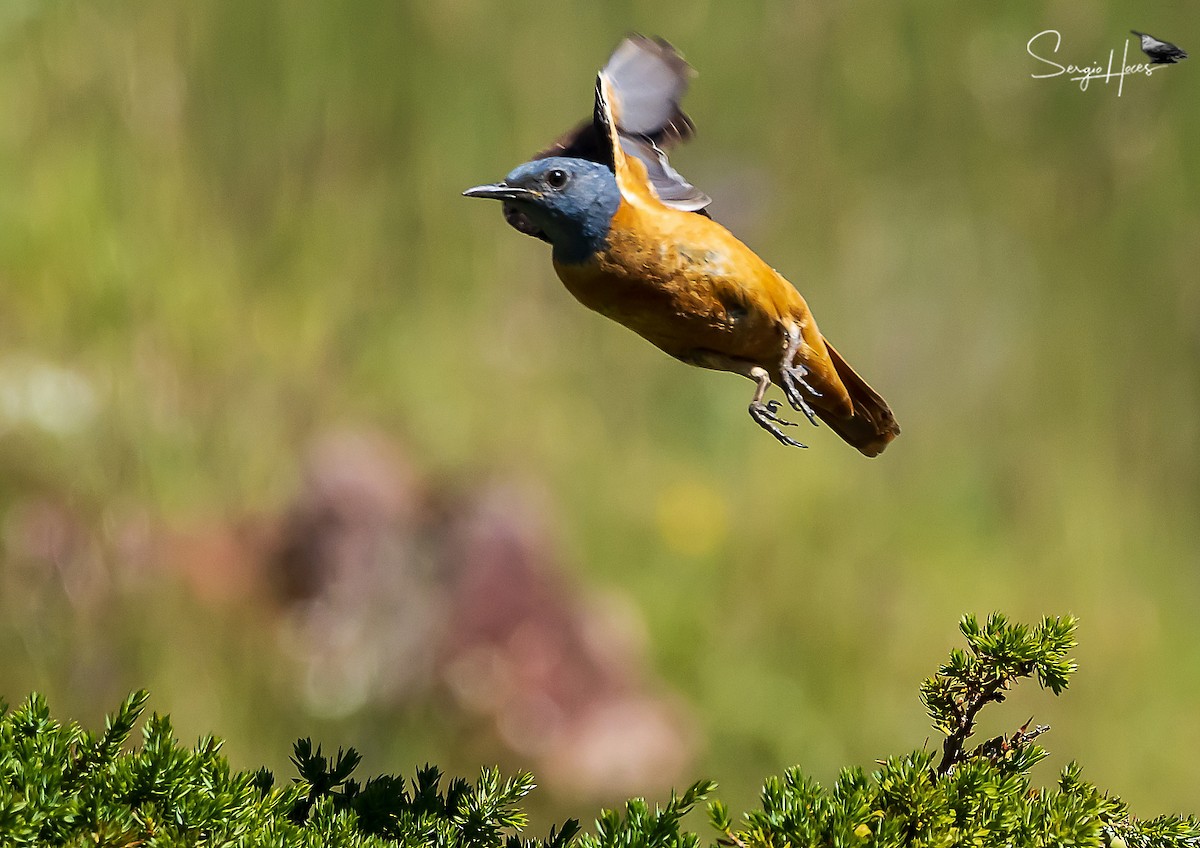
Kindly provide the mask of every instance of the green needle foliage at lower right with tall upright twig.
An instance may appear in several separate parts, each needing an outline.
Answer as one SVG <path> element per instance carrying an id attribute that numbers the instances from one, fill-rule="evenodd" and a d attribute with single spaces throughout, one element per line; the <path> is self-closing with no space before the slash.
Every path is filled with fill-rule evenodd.
<path id="1" fill-rule="evenodd" d="M 1074 763 L 1054 788 L 1037 788 L 1030 769 L 1045 757 L 1033 739 L 1049 730 L 1028 723 L 1010 736 L 971 751 L 965 741 L 979 711 L 1000 702 L 1025 678 L 1055 694 L 1067 688 L 1075 662 L 1072 617 L 1045 618 L 1037 627 L 1009 624 L 1000 614 L 980 626 L 959 625 L 967 651 L 922 684 L 934 727 L 946 734 L 941 762 L 930 751 L 893 757 L 871 775 L 845 769 L 824 789 L 799 769 L 773 777 L 762 810 L 737 825 L 720 804 L 709 807 L 721 844 L 784 846 L 1184 846 L 1200 844 L 1200 822 L 1169 817 L 1130 819 L 1126 805 L 1085 781 Z"/>

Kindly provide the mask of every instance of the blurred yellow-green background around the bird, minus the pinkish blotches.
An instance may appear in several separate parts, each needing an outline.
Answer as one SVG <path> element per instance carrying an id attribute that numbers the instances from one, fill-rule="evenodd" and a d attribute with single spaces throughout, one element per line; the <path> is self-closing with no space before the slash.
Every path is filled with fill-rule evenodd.
<path id="1" fill-rule="evenodd" d="M 145 686 L 282 774 L 313 735 L 372 772 L 532 766 L 546 814 L 701 775 L 743 808 L 793 763 L 940 744 L 917 682 L 961 613 L 1073 612 L 1070 691 L 985 732 L 1034 715 L 1046 781 L 1079 759 L 1139 814 L 1195 812 L 1200 60 L 1118 97 L 1026 53 L 1200 49 L 1194 11 L 1144 10 L 7 0 L 0 693 L 95 726 Z M 587 115 L 630 30 L 701 72 L 674 163 L 890 401 L 881 458 L 827 429 L 784 450 L 748 383 L 588 313 L 460 197 Z M 562 591 L 624 611 L 604 638 L 643 631 L 616 664 L 678 717 L 674 765 L 569 789 L 436 681 L 306 696 L 342 625 L 401 663 L 388 603 L 342 620 L 370 587 L 305 642 L 263 565 L 337 432 L 403 456 L 414 549 L 457 549 L 438 528 L 473 492 L 522 493 Z"/>

